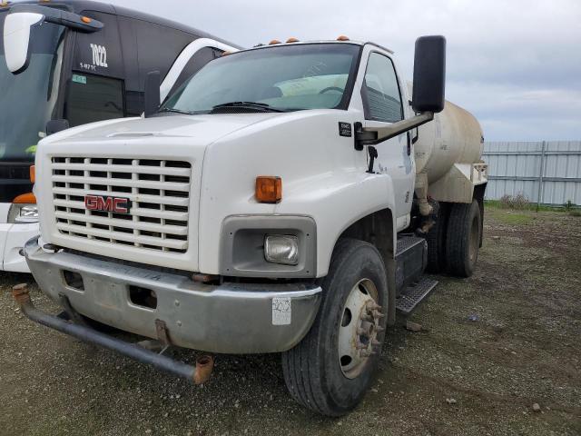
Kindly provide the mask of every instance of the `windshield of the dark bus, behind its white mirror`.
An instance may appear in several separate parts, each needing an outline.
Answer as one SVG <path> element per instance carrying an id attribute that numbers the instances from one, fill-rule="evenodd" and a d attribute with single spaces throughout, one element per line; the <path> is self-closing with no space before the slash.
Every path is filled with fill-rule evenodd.
<path id="1" fill-rule="evenodd" d="M 5 16 L 0 13 L 0 160 L 28 161 L 34 159 L 56 103 L 64 27 L 46 23 L 33 27 L 30 64 L 14 75 L 6 67 L 1 35 Z"/>

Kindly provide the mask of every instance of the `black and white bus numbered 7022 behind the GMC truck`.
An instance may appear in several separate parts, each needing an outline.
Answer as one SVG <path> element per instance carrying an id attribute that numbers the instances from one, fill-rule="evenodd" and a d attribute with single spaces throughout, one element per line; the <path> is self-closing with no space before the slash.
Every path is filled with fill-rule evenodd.
<path id="1" fill-rule="evenodd" d="M 23 247 L 39 233 L 30 180 L 38 141 L 142 114 L 146 74 L 165 77 L 164 96 L 236 48 L 186 25 L 84 0 L 3 3 L 0 31 L 0 270 L 29 272 Z"/>

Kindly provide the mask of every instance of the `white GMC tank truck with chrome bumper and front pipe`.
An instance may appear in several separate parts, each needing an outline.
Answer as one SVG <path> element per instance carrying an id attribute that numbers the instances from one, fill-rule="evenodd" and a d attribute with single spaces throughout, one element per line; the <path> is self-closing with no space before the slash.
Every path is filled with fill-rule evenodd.
<path id="1" fill-rule="evenodd" d="M 42 234 L 25 255 L 64 315 L 15 299 L 195 382 L 212 358 L 176 362 L 92 326 L 150 348 L 281 352 L 297 401 L 350 411 L 396 310 L 436 285 L 424 270 L 466 277 L 477 262 L 482 133 L 444 82 L 441 36 L 416 43 L 413 92 L 380 45 L 273 41 L 206 64 L 159 108 L 153 95 L 143 118 L 44 139 Z"/>

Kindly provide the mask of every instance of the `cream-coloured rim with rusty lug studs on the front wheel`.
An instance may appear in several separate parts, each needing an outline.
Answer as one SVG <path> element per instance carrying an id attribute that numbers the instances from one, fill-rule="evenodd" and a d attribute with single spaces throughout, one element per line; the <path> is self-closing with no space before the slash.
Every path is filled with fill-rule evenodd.
<path id="1" fill-rule="evenodd" d="M 339 364 L 348 379 L 363 372 L 369 358 L 379 352 L 379 332 L 383 318 L 378 289 L 369 279 L 362 279 L 351 288 L 343 307 L 339 326 Z"/>

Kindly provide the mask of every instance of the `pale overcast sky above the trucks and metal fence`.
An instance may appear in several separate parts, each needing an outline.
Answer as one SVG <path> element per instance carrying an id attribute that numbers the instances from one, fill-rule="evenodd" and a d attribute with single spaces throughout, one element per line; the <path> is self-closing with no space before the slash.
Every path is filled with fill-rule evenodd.
<path id="1" fill-rule="evenodd" d="M 419 35 L 448 39 L 446 97 L 487 141 L 581 140 L 581 0 L 108 0 L 249 47 L 271 39 L 373 41 L 411 76 Z"/>

